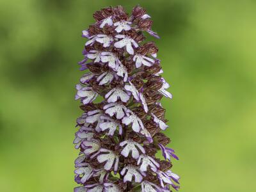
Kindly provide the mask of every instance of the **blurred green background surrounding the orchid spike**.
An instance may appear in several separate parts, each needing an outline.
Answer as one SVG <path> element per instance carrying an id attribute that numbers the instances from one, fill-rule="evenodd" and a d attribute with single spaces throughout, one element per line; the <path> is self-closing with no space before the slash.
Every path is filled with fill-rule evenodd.
<path id="1" fill-rule="evenodd" d="M 0 1 L 0 191 L 65 192 L 74 183 L 81 31 L 104 6 L 147 8 L 184 192 L 256 191 L 256 2 Z M 154 40 L 150 38 L 150 40 Z"/>

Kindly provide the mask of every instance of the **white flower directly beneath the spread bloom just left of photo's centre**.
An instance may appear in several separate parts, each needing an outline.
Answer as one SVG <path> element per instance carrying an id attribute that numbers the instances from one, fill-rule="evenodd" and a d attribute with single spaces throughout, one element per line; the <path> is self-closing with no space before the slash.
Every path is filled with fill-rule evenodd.
<path id="1" fill-rule="evenodd" d="M 125 115 L 125 111 L 127 108 L 121 104 L 120 102 L 111 102 L 109 104 L 106 104 L 103 107 L 105 113 L 107 113 L 109 116 L 116 116 L 117 119 L 121 119 Z"/>

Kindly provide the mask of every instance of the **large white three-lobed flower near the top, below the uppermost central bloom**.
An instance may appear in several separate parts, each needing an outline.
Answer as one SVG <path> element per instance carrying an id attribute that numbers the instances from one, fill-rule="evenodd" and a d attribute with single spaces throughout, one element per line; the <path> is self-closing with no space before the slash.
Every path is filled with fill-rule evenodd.
<path id="1" fill-rule="evenodd" d="M 129 36 L 125 35 L 116 35 L 116 38 L 122 38 L 122 40 L 115 42 L 114 46 L 116 48 L 123 48 L 126 47 L 126 51 L 129 54 L 134 54 L 134 49 L 132 48 L 132 45 L 137 48 L 139 45 Z"/>

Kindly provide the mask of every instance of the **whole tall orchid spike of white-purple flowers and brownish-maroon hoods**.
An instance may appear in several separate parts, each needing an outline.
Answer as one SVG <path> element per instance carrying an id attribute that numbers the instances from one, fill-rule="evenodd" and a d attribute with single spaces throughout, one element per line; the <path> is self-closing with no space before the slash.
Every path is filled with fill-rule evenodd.
<path id="1" fill-rule="evenodd" d="M 80 150 L 75 180 L 82 191 L 171 191 L 178 189 L 171 158 L 178 159 L 161 131 L 167 120 L 159 100 L 172 98 L 166 89 L 154 42 L 152 20 L 140 6 L 131 16 L 122 6 L 93 14 L 96 23 L 83 31 L 87 38 L 76 85 L 83 114 L 77 118 L 74 144 Z M 101 102 L 93 102 L 97 96 Z M 157 159 L 161 150 L 165 160 Z"/>

